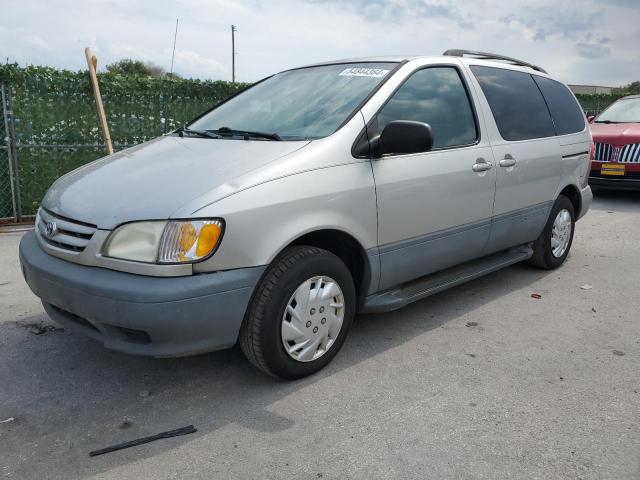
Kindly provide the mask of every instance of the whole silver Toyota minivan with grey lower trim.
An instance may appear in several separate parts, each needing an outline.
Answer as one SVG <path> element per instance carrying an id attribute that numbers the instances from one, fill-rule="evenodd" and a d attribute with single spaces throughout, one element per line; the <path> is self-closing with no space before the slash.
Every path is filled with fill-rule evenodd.
<path id="1" fill-rule="evenodd" d="M 357 313 L 560 266 L 591 203 L 591 145 L 569 89 L 513 58 L 296 68 L 60 178 L 20 260 L 50 317 L 105 347 L 239 343 L 299 378 Z"/>

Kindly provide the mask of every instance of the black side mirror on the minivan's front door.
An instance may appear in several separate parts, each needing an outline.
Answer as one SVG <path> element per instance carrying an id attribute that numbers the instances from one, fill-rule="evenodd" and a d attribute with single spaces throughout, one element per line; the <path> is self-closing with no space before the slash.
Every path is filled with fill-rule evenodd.
<path id="1" fill-rule="evenodd" d="M 428 152 L 433 147 L 433 131 L 428 123 L 409 120 L 389 122 L 378 139 L 376 157 L 386 154 Z"/>

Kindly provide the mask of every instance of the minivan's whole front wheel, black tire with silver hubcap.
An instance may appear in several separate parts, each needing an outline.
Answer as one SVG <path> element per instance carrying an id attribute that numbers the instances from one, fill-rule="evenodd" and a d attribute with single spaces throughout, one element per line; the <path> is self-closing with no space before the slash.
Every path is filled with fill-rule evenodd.
<path id="1" fill-rule="evenodd" d="M 340 295 L 334 295 L 338 291 Z M 340 299 L 343 307 L 336 308 Z M 306 377 L 338 353 L 355 306 L 353 278 L 339 257 L 316 247 L 288 248 L 268 267 L 254 292 L 240 329 L 240 348 L 268 375 Z"/>

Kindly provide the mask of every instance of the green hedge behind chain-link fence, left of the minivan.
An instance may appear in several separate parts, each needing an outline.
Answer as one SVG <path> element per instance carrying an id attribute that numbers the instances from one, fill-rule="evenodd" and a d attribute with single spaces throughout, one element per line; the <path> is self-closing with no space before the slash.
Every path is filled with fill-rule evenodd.
<path id="1" fill-rule="evenodd" d="M 112 73 L 98 79 L 116 150 L 167 133 L 246 86 Z M 32 215 L 56 178 L 104 156 L 91 82 L 87 71 L 0 65 L 0 83 L 12 90 L 20 203 L 22 214 Z M 0 217 L 11 216 L 4 152 L 0 149 Z"/>

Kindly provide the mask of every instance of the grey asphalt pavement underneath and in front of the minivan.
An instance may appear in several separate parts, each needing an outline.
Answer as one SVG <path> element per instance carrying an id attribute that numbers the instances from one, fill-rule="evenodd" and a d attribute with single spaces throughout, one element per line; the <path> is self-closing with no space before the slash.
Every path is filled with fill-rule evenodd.
<path id="1" fill-rule="evenodd" d="M 57 327 L 21 235 L 0 233 L 0 478 L 640 478 L 640 192 L 599 193 L 559 270 L 358 317 L 296 382 L 239 349 L 138 358 Z"/>

